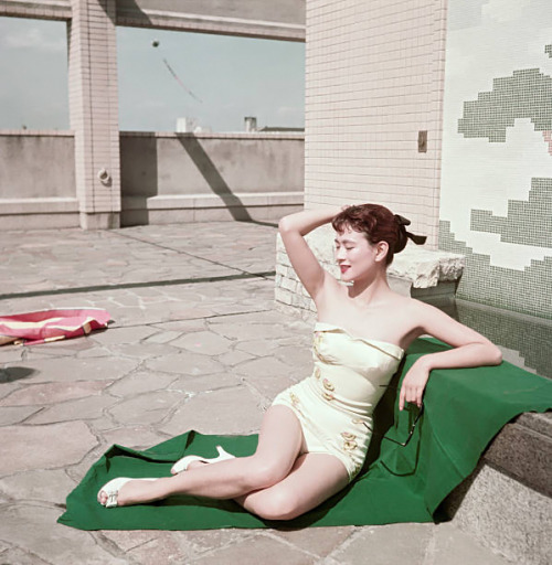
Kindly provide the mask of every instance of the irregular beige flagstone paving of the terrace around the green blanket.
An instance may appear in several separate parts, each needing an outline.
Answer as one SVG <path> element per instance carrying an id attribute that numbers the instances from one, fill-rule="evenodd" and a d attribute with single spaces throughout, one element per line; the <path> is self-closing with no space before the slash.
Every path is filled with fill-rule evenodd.
<path id="1" fill-rule="evenodd" d="M 113 444 L 250 434 L 310 372 L 310 328 L 275 310 L 275 228 L 253 223 L 0 236 L 0 313 L 105 308 L 87 338 L 0 348 L 0 563 L 499 565 L 454 522 L 82 532 L 65 497 Z M 236 409 L 238 407 L 238 409 Z"/>

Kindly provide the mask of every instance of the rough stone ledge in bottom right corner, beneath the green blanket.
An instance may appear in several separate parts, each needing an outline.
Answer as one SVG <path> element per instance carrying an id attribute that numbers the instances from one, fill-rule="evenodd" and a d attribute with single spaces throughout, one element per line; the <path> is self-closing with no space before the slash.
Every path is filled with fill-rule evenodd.
<path id="1" fill-rule="evenodd" d="M 444 511 L 481 544 L 514 563 L 548 565 L 552 554 L 552 413 L 507 424 Z"/>

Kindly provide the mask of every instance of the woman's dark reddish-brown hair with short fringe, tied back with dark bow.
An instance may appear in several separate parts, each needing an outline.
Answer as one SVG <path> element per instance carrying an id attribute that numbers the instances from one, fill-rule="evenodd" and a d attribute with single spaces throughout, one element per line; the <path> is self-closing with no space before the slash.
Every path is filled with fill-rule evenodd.
<path id="1" fill-rule="evenodd" d="M 425 235 L 414 235 L 406 231 L 410 223 L 410 220 L 393 214 L 380 204 L 359 204 L 346 207 L 332 220 L 331 225 L 338 233 L 347 228 L 360 232 L 372 245 L 386 242 L 389 252 L 385 264 L 391 265 L 393 256 L 404 249 L 408 238 L 416 245 L 426 241 Z"/>

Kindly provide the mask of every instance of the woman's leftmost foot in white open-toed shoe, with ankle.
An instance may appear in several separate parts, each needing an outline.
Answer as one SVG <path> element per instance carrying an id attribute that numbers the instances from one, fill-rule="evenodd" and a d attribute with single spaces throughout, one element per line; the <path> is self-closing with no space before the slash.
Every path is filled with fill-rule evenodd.
<path id="1" fill-rule="evenodd" d="M 163 479 L 130 479 L 118 477 L 104 484 L 97 495 L 105 508 L 142 504 L 163 498 L 160 489 Z"/>

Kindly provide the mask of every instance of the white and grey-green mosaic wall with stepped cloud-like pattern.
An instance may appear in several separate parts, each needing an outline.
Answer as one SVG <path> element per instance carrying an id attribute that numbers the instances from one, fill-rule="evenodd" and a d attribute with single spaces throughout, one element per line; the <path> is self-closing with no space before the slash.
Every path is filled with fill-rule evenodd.
<path id="1" fill-rule="evenodd" d="M 552 318 L 549 0 L 449 0 L 439 247 L 461 298 Z"/>

